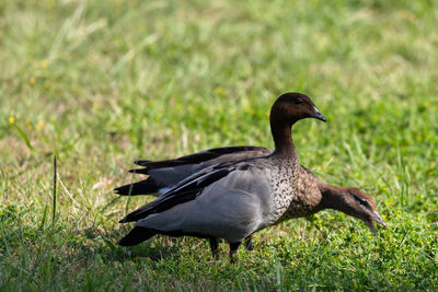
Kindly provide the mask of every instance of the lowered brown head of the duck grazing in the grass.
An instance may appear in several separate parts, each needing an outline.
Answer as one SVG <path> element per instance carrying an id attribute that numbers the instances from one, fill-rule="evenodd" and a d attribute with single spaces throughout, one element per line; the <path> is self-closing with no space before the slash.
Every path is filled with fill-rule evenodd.
<path id="1" fill-rule="evenodd" d="M 343 200 L 345 205 L 341 211 L 362 220 L 372 233 L 377 233 L 373 222 L 387 226 L 387 223 L 376 211 L 376 202 L 371 196 L 358 188 L 345 188 Z"/>

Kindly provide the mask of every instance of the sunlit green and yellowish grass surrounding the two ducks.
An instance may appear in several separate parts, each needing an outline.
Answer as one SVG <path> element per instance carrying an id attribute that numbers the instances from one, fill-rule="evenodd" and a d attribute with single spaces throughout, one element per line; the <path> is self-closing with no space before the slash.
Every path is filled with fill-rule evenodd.
<path id="1" fill-rule="evenodd" d="M 0 290 L 438 290 L 437 21 L 437 1 L 0 1 Z M 195 238 L 115 245 L 150 199 L 112 192 L 135 159 L 272 148 L 286 91 L 328 119 L 295 127 L 302 164 L 389 229 L 324 211 L 237 265 Z"/>

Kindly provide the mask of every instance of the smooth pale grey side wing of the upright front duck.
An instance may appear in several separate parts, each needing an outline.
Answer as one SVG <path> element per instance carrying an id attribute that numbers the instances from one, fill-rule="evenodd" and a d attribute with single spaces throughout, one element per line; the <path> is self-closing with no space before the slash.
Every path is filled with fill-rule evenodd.
<path id="1" fill-rule="evenodd" d="M 194 200 L 137 222 L 138 226 L 205 234 L 239 242 L 264 226 L 273 213 L 266 170 L 237 170 L 206 187 Z"/>

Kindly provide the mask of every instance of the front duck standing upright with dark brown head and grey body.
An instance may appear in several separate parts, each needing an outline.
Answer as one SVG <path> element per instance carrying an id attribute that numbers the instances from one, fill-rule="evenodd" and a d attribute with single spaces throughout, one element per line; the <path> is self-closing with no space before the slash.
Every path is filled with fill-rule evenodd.
<path id="1" fill-rule="evenodd" d="M 318 206 L 321 191 L 312 182 L 303 188 L 291 136 L 291 127 L 304 118 L 326 121 L 309 96 L 281 94 L 269 115 L 272 154 L 215 164 L 182 179 L 119 221 L 136 224 L 118 244 L 137 245 L 157 234 L 208 238 L 210 244 L 223 238 L 233 261 L 240 244 L 280 220 L 292 201 L 297 210 Z"/>

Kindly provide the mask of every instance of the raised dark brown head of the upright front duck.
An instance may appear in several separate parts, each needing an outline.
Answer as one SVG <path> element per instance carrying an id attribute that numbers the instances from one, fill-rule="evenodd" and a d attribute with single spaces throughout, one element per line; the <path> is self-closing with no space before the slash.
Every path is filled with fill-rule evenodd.
<path id="1" fill-rule="evenodd" d="M 272 120 L 281 120 L 290 126 L 303 118 L 316 118 L 326 121 L 309 96 L 297 92 L 281 94 L 270 110 Z"/>

